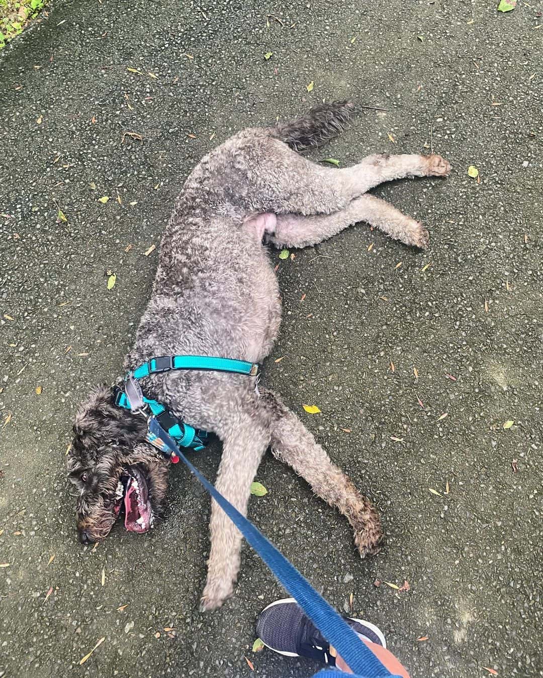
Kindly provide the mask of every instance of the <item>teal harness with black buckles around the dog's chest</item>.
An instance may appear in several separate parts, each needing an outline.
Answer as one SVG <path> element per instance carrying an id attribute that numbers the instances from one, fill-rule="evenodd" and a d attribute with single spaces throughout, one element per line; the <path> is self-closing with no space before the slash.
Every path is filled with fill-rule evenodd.
<path id="1" fill-rule="evenodd" d="M 246 376 L 258 375 L 257 363 L 249 363 L 245 360 L 233 360 L 230 358 L 215 358 L 206 355 L 162 355 L 152 358 L 143 363 L 125 377 L 125 388 L 115 388 L 115 405 L 125 410 L 147 416 L 151 412 L 147 424 L 146 439 L 151 445 L 157 447 L 170 461 L 176 464 L 179 457 L 175 454 L 168 442 L 151 431 L 151 420 L 156 420 L 162 429 L 179 447 L 189 450 L 203 450 L 208 444 L 209 434 L 199 428 L 193 428 L 185 424 L 179 417 L 174 416 L 162 403 L 151 398 L 146 398 L 138 384 L 138 380 L 151 374 L 162 374 L 172 370 L 200 370 L 203 372 L 231 372 L 233 374 L 245 374 Z M 153 427 L 154 428 L 154 427 Z"/>

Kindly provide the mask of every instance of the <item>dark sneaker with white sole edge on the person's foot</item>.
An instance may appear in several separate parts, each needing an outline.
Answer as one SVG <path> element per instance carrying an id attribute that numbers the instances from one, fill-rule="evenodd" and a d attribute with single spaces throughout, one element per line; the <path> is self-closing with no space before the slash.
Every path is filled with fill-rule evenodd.
<path id="1" fill-rule="evenodd" d="M 386 647 L 383 633 L 374 624 L 345 616 L 343 619 L 363 639 Z M 305 616 L 294 598 L 276 600 L 265 607 L 257 620 L 257 634 L 266 647 L 286 657 L 308 657 L 335 666 L 330 643 Z"/>

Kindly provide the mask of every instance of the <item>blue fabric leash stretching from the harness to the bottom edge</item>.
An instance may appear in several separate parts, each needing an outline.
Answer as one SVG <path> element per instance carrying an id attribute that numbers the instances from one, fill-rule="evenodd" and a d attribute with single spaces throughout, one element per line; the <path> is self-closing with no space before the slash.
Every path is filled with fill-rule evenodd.
<path id="1" fill-rule="evenodd" d="M 385 678 L 392 676 L 390 671 L 377 659 L 375 654 L 360 640 L 349 624 L 337 614 L 311 584 L 298 572 L 276 547 L 263 536 L 238 509 L 226 500 L 214 486 L 204 478 L 179 450 L 179 446 L 164 431 L 154 417 L 149 419 L 149 431 L 162 438 L 175 450 L 176 455 L 189 468 L 189 471 L 204 485 L 209 494 L 221 506 L 221 509 L 236 525 L 269 570 L 276 576 L 284 588 L 297 601 L 303 612 L 312 620 L 322 635 L 360 678 Z M 336 672 L 336 675 L 341 675 Z"/>

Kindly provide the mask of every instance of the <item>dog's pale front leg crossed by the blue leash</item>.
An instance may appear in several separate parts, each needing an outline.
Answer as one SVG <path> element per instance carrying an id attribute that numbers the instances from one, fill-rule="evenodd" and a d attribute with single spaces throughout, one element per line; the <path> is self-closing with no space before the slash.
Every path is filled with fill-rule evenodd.
<path id="1" fill-rule="evenodd" d="M 269 445 L 269 431 L 263 422 L 250 416 L 233 417 L 234 423 L 223 435 L 223 456 L 215 487 L 243 515 L 247 511 L 250 485 Z M 233 593 L 240 567 L 242 535 L 223 509 L 211 500 L 208 576 L 200 610 L 221 607 Z"/>

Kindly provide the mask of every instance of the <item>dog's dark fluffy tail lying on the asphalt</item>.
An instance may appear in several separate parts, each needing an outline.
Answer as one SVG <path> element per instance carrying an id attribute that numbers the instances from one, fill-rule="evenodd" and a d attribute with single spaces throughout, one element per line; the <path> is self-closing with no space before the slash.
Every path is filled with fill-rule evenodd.
<path id="1" fill-rule="evenodd" d="M 277 123 L 272 134 L 295 151 L 319 146 L 343 132 L 354 110 L 354 103 L 347 100 L 320 104 L 296 120 Z"/>

